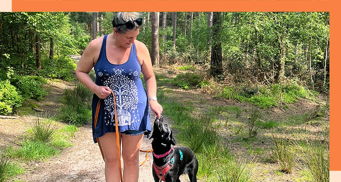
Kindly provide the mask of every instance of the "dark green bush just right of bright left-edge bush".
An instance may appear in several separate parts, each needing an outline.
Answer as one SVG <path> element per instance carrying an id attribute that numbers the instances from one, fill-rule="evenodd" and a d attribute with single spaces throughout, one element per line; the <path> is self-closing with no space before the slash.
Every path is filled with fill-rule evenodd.
<path id="1" fill-rule="evenodd" d="M 16 86 L 24 100 L 35 99 L 39 100 L 45 95 L 47 91 L 43 89 L 43 85 L 47 80 L 39 76 L 19 76 L 16 75 L 11 84 Z"/>

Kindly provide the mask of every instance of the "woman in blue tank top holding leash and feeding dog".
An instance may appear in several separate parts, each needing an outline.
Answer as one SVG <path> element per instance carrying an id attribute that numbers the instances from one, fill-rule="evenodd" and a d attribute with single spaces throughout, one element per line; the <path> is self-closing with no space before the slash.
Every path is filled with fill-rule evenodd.
<path id="1" fill-rule="evenodd" d="M 106 181 L 119 181 L 120 178 L 115 145 L 115 112 L 110 92 L 113 91 L 122 145 L 123 179 L 125 182 L 136 182 L 142 136 L 151 130 L 148 105 L 158 117 L 162 107 L 156 100 L 156 80 L 148 49 L 135 40 L 142 19 L 138 18 L 137 13 L 119 12 L 115 14 L 112 24 L 112 34 L 97 38 L 86 47 L 76 69 L 76 76 L 94 92 L 92 133 L 94 142 L 97 142 L 97 138 L 102 146 Z M 88 75 L 93 67 L 96 82 Z M 139 78 L 140 73 L 145 80 L 146 92 Z M 98 121 L 94 121 L 99 99 L 102 100 Z"/>

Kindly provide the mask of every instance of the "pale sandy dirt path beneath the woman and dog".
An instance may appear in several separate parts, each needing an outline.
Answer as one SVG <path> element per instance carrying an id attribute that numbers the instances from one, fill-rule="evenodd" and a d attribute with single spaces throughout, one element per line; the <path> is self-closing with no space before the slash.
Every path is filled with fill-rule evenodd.
<path id="1" fill-rule="evenodd" d="M 61 105 L 64 89 L 72 87 L 67 82 L 51 83 L 49 95 L 37 105 L 40 109 L 47 110 L 49 115 L 54 115 Z M 22 140 L 23 135 L 31 126 L 35 116 L 24 116 L 18 120 L 0 120 L 0 149 L 7 146 L 19 146 L 17 143 Z M 151 115 L 151 118 L 154 118 Z M 165 120 L 169 120 L 165 118 Z M 153 119 L 151 119 L 152 124 Z M 65 125 L 61 123 L 61 125 Z M 16 176 L 14 179 L 22 181 L 105 181 L 104 166 L 100 150 L 97 144 L 93 143 L 91 124 L 79 127 L 75 137 L 71 139 L 73 146 L 64 149 L 58 157 L 46 161 L 35 161 L 23 164 L 26 172 Z M 141 149 L 149 150 L 151 140 L 144 136 Z M 140 163 L 145 159 L 145 153 L 139 154 Z M 152 177 L 152 156 L 140 167 L 138 181 L 153 181 Z M 187 175 L 181 177 L 182 181 L 189 181 Z"/>

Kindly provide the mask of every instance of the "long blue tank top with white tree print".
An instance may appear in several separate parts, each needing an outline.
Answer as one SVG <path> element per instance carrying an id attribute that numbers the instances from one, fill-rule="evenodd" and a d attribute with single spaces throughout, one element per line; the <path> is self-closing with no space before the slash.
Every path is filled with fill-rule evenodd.
<path id="1" fill-rule="evenodd" d="M 136 56 L 135 44 L 131 45 L 128 61 L 115 65 L 106 56 L 107 35 L 103 38 L 98 61 L 94 67 L 95 83 L 109 87 L 115 94 L 118 131 L 151 131 L 147 94 L 140 79 L 141 66 Z M 112 95 L 101 100 L 98 121 L 94 118 L 99 97 L 92 99 L 92 134 L 94 142 L 107 132 L 115 132 L 115 110 Z"/>

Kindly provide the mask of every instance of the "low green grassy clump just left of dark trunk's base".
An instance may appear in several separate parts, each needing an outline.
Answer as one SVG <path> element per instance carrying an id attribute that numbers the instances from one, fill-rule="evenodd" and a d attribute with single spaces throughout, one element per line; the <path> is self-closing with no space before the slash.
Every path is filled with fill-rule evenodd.
<path id="1" fill-rule="evenodd" d="M 182 89 L 201 88 L 208 85 L 202 76 L 196 73 L 179 74 L 172 80 L 172 84 Z"/>

